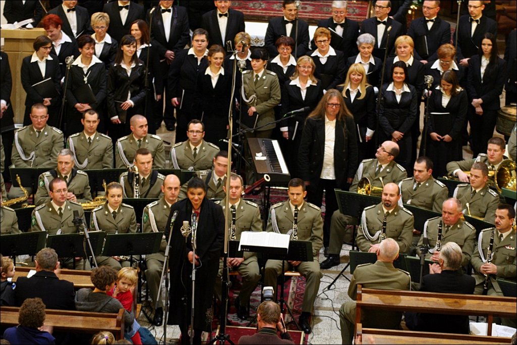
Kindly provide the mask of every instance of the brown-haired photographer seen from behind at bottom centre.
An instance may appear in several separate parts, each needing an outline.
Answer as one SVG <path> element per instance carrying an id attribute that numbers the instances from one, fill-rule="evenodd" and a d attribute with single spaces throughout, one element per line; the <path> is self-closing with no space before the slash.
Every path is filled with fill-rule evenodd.
<path id="1" fill-rule="evenodd" d="M 258 331 L 254 335 L 239 338 L 241 344 L 294 344 L 291 335 L 285 329 L 280 306 L 273 301 L 261 303 L 257 309 Z M 280 332 L 280 338 L 278 338 Z"/>

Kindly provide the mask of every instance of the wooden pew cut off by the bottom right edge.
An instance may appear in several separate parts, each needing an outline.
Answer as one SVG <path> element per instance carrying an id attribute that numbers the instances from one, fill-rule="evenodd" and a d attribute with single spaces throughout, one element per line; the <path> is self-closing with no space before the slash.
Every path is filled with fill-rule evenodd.
<path id="1" fill-rule="evenodd" d="M 394 329 L 362 328 L 357 324 L 357 336 L 363 344 L 510 344 L 511 338 L 469 334 L 397 331 Z"/>

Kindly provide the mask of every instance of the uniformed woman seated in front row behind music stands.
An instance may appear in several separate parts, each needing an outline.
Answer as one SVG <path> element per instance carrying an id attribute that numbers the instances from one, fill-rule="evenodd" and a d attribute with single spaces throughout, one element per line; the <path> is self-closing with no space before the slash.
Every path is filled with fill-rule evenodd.
<path id="1" fill-rule="evenodd" d="M 133 206 L 123 202 L 122 186 L 117 182 L 110 182 L 106 187 L 106 202 L 95 208 L 90 218 L 92 231 L 105 231 L 107 234 L 126 234 L 136 232 L 136 215 Z M 97 256 L 98 266 L 107 265 L 117 271 L 122 267 L 129 267 L 130 261 L 119 257 Z M 138 257 L 133 257 L 133 265 Z"/>

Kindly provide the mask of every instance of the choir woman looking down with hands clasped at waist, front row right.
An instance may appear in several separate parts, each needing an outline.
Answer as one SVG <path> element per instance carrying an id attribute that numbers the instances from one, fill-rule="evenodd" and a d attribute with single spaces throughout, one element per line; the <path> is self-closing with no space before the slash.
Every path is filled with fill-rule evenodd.
<path id="1" fill-rule="evenodd" d="M 425 155 L 433 161 L 435 176 L 447 175 L 447 163 L 463 159 L 461 131 L 467 109 L 467 93 L 460 87 L 456 73 L 445 71 L 440 86 L 433 89 L 429 98 Z"/>

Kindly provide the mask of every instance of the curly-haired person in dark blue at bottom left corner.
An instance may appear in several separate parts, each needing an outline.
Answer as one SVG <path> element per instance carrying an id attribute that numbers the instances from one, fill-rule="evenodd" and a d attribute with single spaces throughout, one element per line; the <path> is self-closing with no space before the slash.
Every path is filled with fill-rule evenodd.
<path id="1" fill-rule="evenodd" d="M 28 298 L 20 307 L 20 323 L 4 332 L 4 339 L 11 344 L 54 344 L 52 327 L 44 326 L 45 305 L 41 298 Z"/>

